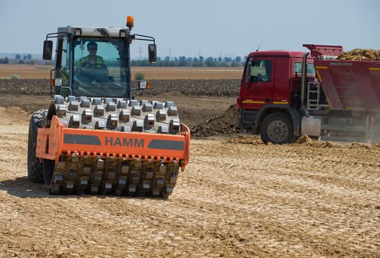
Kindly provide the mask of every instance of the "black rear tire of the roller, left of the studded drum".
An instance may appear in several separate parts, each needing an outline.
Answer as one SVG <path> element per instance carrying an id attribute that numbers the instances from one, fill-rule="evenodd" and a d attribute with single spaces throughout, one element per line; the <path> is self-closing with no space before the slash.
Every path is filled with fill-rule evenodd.
<path id="1" fill-rule="evenodd" d="M 46 110 L 36 111 L 30 118 L 28 135 L 28 180 L 33 183 L 44 183 L 44 167 L 36 157 L 37 130 Z"/>

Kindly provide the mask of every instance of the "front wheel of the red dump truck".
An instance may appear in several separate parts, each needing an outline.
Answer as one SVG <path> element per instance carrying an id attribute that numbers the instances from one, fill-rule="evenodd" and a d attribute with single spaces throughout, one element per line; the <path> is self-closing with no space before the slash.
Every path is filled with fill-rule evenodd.
<path id="1" fill-rule="evenodd" d="M 260 137 L 264 143 L 294 143 L 292 118 L 283 112 L 267 115 L 260 125 Z"/>

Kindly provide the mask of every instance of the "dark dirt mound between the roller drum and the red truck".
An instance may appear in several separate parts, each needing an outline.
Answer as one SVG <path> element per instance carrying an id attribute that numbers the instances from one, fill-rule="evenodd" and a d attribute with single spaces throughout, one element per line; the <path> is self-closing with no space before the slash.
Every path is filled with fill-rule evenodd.
<path id="1" fill-rule="evenodd" d="M 236 104 L 229 106 L 223 115 L 191 128 L 191 135 L 193 137 L 210 137 L 213 135 L 232 135 L 238 132 L 235 128 L 236 112 L 238 112 Z"/>

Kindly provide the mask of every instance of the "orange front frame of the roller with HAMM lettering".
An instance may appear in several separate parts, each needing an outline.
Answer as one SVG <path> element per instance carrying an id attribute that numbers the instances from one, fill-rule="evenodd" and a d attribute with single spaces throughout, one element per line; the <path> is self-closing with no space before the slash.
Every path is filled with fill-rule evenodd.
<path id="1" fill-rule="evenodd" d="M 59 161 L 63 154 L 109 159 L 189 163 L 190 130 L 181 123 L 180 135 L 68 128 L 53 116 L 50 128 L 39 128 L 36 157 Z"/>

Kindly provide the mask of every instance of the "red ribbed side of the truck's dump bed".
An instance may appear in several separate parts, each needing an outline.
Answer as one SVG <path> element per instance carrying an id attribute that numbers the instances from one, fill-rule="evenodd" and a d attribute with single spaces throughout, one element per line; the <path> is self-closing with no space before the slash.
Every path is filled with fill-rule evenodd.
<path id="1" fill-rule="evenodd" d="M 314 59 L 332 110 L 380 112 L 380 61 Z"/>

